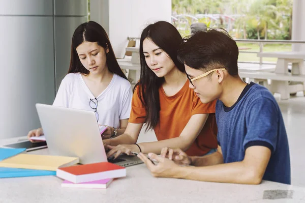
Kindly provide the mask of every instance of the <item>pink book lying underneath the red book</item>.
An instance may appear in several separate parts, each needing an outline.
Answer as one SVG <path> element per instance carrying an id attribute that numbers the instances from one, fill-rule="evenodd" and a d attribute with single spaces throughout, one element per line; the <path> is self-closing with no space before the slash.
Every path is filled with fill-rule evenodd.
<path id="1" fill-rule="evenodd" d="M 72 183 L 70 181 L 64 181 L 62 187 L 66 188 L 104 188 L 106 189 L 113 179 L 104 179 L 98 181 L 91 181 L 85 183 Z"/>

